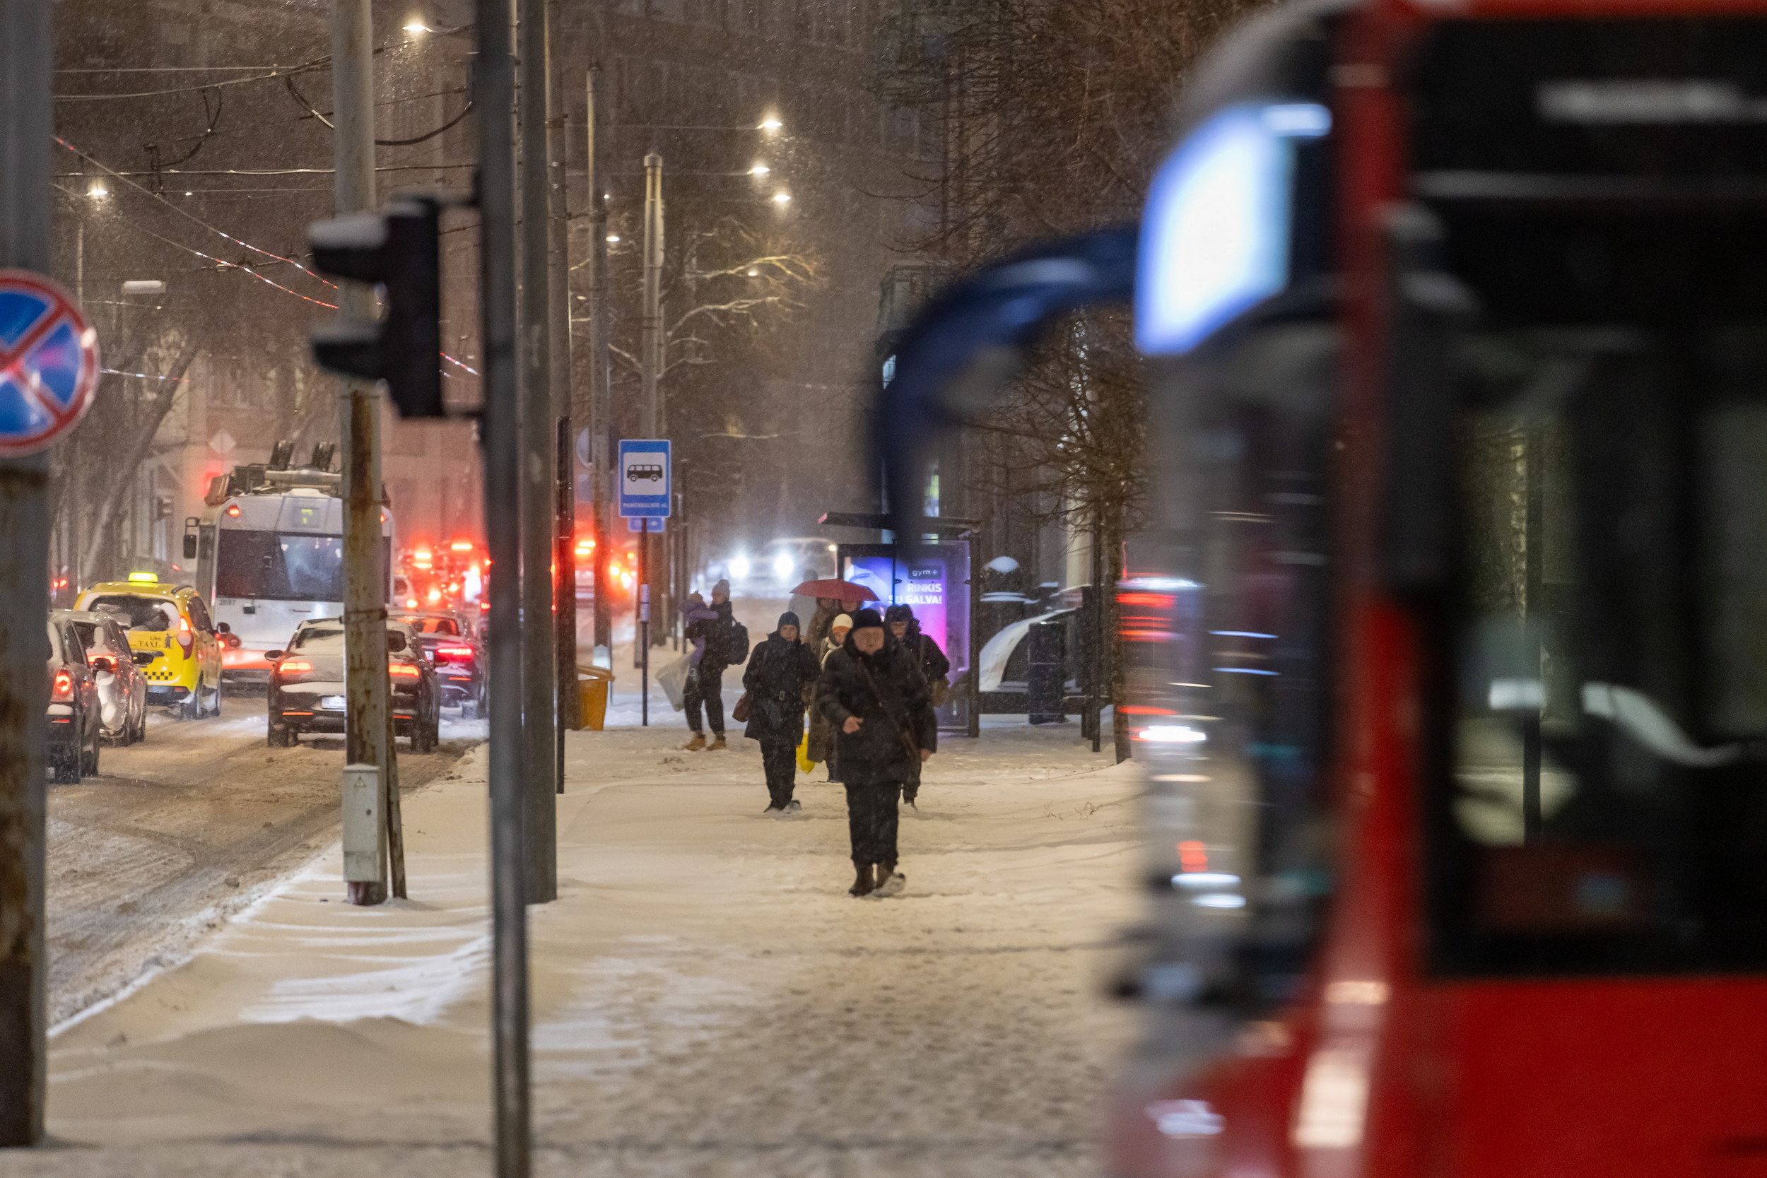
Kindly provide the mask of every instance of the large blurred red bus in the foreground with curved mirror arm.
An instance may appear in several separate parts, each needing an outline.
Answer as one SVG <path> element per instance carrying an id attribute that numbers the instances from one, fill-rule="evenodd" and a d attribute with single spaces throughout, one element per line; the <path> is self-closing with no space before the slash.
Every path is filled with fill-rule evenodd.
<path id="1" fill-rule="evenodd" d="M 892 486 L 1126 297 L 1113 1173 L 1767 1174 L 1767 5 L 1258 18 L 1140 226 L 910 328 Z"/>

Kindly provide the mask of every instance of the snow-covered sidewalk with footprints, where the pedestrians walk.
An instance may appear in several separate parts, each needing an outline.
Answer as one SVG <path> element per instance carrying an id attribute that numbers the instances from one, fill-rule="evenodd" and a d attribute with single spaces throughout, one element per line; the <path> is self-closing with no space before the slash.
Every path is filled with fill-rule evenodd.
<path id="1" fill-rule="evenodd" d="M 949 738 L 905 811 L 908 892 L 855 901 L 839 786 L 763 818 L 753 742 L 687 754 L 654 719 L 569 736 L 560 899 L 532 910 L 537 1173 L 1096 1173 L 1131 766 L 1073 724 Z M 334 851 L 60 1030 L 51 1132 L 101 1148 L 0 1174 L 488 1173 L 482 749 L 405 814 L 410 902 L 339 902 Z"/>

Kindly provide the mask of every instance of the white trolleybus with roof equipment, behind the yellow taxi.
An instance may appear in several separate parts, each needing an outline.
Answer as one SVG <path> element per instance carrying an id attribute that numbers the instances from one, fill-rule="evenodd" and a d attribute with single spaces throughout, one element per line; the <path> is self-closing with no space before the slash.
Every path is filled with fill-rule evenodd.
<path id="1" fill-rule="evenodd" d="M 231 627 L 221 652 L 223 682 L 269 682 L 263 652 L 288 646 L 307 618 L 343 616 L 343 475 L 330 470 L 336 447 L 313 447 L 306 466 L 293 443 L 277 442 L 269 463 L 235 466 L 209 482 L 201 519 L 184 521 L 184 558 L 196 562 L 196 586 L 214 602 L 214 620 Z M 380 510 L 382 569 L 392 590 L 392 510 Z"/>

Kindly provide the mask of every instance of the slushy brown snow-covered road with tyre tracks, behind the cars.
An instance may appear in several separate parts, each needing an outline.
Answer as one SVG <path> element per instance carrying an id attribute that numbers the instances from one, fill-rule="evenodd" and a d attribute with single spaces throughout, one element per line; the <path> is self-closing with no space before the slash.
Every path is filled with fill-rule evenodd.
<path id="1" fill-rule="evenodd" d="M 148 717 L 148 738 L 106 747 L 101 775 L 49 786 L 49 1021 L 180 961 L 205 933 L 332 839 L 343 740 L 263 740 L 263 696 L 230 696 L 219 719 Z M 454 765 L 479 726 L 433 756 L 401 756 L 421 786 Z"/>

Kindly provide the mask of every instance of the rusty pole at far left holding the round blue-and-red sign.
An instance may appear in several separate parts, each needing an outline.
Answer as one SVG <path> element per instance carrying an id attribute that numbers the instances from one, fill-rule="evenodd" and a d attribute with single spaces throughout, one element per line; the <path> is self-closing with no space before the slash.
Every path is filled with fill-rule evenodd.
<path id="1" fill-rule="evenodd" d="M 0 267 L 49 270 L 55 5 L 0 0 Z M 0 461 L 0 1146 L 42 1139 L 48 454 Z"/>

